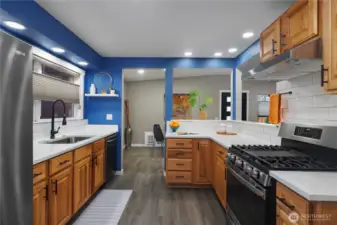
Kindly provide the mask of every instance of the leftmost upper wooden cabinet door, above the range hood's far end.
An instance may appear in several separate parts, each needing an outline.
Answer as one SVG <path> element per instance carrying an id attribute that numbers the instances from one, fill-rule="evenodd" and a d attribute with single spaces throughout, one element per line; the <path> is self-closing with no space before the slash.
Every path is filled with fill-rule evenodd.
<path id="1" fill-rule="evenodd" d="M 260 61 L 266 62 L 280 54 L 280 19 L 272 23 L 260 35 Z"/>

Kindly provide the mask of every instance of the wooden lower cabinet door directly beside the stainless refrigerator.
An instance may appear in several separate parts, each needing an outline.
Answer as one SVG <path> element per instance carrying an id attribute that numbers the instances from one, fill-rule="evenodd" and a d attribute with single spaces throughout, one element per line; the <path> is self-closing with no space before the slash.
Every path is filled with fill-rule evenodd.
<path id="1" fill-rule="evenodd" d="M 41 181 L 33 187 L 33 221 L 34 225 L 48 224 L 48 182 Z"/>

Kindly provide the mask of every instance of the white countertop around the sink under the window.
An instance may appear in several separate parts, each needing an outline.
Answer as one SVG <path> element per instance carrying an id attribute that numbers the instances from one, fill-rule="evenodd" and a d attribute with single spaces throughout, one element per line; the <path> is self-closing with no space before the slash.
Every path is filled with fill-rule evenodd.
<path id="1" fill-rule="evenodd" d="M 74 144 L 43 144 L 41 141 L 49 140 L 48 136 L 39 137 L 36 139 L 34 138 L 33 165 L 67 153 L 117 132 L 117 125 L 84 125 L 76 126 L 73 130 L 56 136 L 56 139 L 59 139 L 62 136 L 92 136 L 91 138 L 88 138 L 84 141 L 79 141 Z"/>

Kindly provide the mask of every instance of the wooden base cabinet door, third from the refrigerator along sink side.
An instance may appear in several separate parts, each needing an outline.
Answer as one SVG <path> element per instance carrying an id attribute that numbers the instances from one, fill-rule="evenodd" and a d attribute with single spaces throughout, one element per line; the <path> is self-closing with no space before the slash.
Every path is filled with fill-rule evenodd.
<path id="1" fill-rule="evenodd" d="M 86 157 L 74 165 L 74 213 L 91 197 L 91 171 L 91 157 Z"/>

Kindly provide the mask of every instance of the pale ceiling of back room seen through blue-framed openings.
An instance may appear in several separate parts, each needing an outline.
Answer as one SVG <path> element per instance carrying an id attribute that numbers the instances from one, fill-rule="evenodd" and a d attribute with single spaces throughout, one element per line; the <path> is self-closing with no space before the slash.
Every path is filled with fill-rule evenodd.
<path id="1" fill-rule="evenodd" d="M 228 76 L 231 72 L 231 69 L 174 69 L 173 77 Z M 123 74 L 126 82 L 165 79 L 164 69 L 145 69 L 144 74 L 139 74 L 138 69 L 124 69 Z"/>

